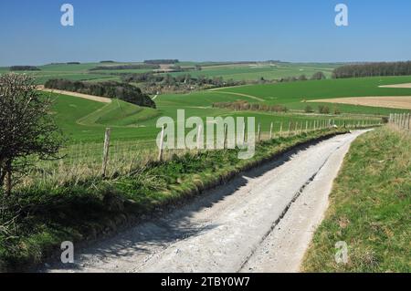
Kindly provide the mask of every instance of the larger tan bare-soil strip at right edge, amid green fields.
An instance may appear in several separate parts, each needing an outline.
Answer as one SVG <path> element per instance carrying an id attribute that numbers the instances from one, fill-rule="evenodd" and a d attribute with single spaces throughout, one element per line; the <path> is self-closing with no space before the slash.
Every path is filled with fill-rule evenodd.
<path id="1" fill-rule="evenodd" d="M 349 97 L 335 99 L 316 99 L 310 100 L 308 102 L 362 105 L 388 109 L 411 109 L 411 96 Z"/>

